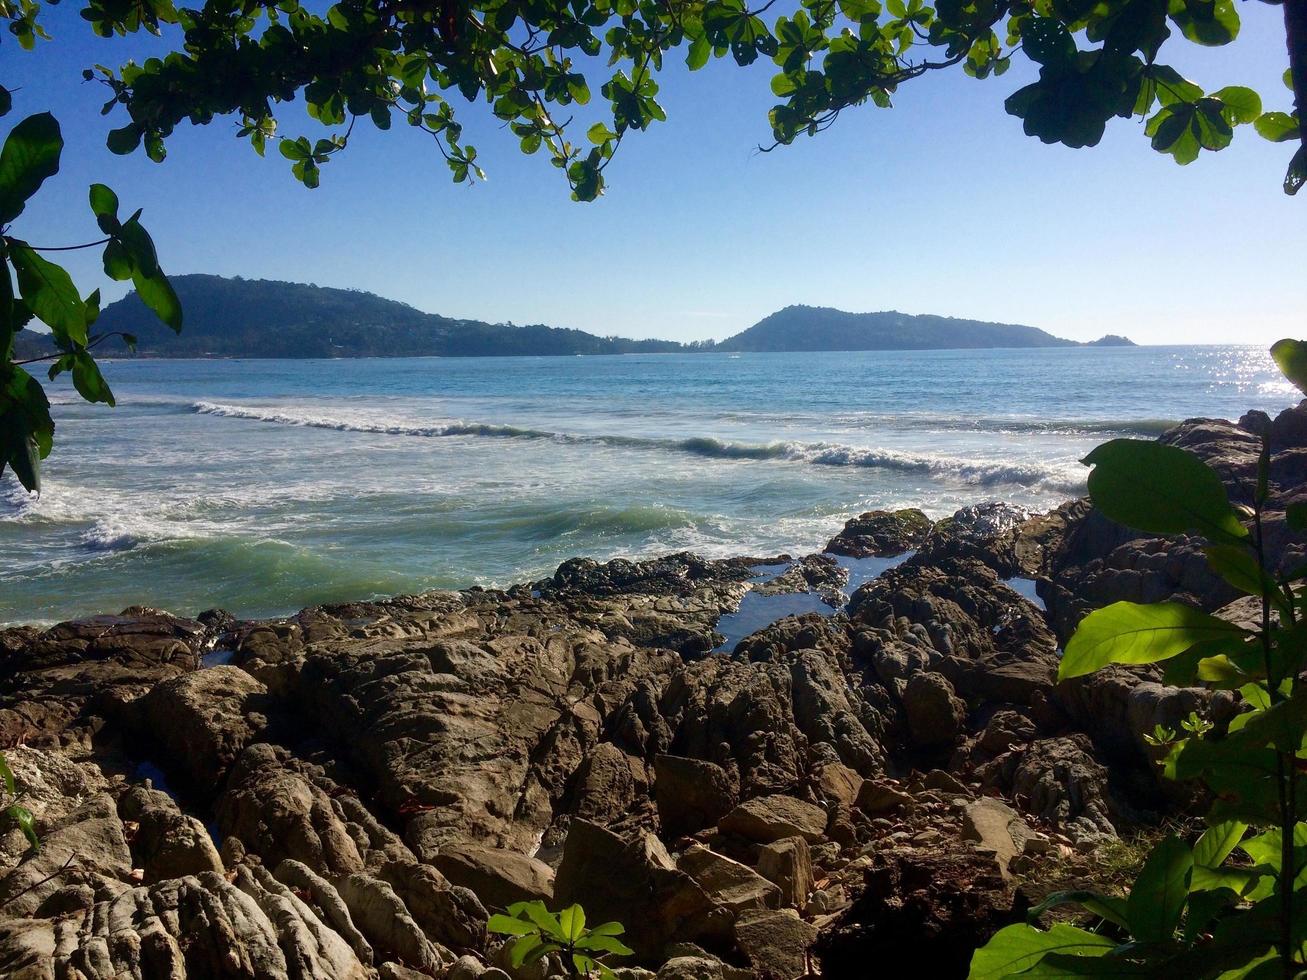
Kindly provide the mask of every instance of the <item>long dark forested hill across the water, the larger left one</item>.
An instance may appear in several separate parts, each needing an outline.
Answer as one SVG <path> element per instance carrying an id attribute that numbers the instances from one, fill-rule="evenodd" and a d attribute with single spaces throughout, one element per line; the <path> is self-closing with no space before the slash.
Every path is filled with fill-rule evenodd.
<path id="1" fill-rule="evenodd" d="M 186 327 L 174 335 L 131 294 L 110 304 L 97 331 L 136 335 L 157 357 L 485 357 L 686 350 L 665 340 L 596 337 L 584 331 L 515 327 L 423 314 L 393 299 L 299 282 L 170 276 Z"/>

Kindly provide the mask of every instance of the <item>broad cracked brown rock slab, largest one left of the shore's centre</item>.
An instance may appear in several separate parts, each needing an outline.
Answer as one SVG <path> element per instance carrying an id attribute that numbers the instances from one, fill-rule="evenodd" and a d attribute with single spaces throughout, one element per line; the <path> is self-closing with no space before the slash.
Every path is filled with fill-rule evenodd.
<path id="1" fill-rule="evenodd" d="M 405 626 L 414 636 L 328 639 L 305 656 L 301 700 L 374 775 L 422 860 L 460 841 L 531 849 L 604 715 L 642 677 L 680 662 L 529 601 L 528 617 L 501 610 L 502 596 L 473 595 Z M 549 629 L 552 617 L 570 625 Z"/>

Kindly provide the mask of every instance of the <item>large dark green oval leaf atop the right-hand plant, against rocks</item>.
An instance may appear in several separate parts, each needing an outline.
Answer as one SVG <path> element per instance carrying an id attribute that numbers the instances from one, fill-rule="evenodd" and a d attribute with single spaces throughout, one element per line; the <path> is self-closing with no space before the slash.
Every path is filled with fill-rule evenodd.
<path id="1" fill-rule="evenodd" d="M 1112 439 L 1085 463 L 1089 495 L 1117 524 L 1153 534 L 1199 532 L 1209 538 L 1248 536 L 1217 472 L 1187 449 L 1142 439 Z"/>

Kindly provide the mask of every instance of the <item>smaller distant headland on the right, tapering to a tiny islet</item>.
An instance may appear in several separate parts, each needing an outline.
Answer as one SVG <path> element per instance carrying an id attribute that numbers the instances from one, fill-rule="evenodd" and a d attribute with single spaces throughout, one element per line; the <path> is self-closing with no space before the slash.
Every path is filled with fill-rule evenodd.
<path id="1" fill-rule="evenodd" d="M 1124 337 L 1095 345 L 1134 346 Z M 787 306 L 715 350 L 949 350 L 959 348 L 1074 348 L 1036 327 L 901 312 L 846 314 L 818 306 Z"/>

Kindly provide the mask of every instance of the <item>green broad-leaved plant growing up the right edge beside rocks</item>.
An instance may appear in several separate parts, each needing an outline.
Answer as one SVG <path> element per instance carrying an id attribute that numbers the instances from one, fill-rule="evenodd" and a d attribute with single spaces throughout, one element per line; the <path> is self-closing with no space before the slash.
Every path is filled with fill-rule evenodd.
<path id="1" fill-rule="evenodd" d="M 1272 349 L 1298 387 L 1307 385 L 1304 351 L 1287 340 Z M 1153 534 L 1205 537 L 1209 566 L 1260 600 L 1261 621 L 1248 629 L 1178 602 L 1115 602 L 1085 617 L 1059 676 L 1165 664 L 1168 683 L 1233 690 L 1243 708 L 1223 729 L 1193 716 L 1183 737 L 1158 730 L 1150 740 L 1167 779 L 1201 783 L 1213 800 L 1197 840 L 1172 835 L 1154 847 L 1124 898 L 1050 896 L 1029 923 L 1000 930 L 975 953 L 971 977 L 1298 976 L 1307 967 L 1307 822 L 1299 819 L 1307 802 L 1307 568 L 1278 574 L 1266 563 L 1269 435 L 1252 508 L 1234 507 L 1217 473 L 1175 447 L 1116 439 L 1085 463 L 1094 466 L 1089 491 L 1099 511 Z M 1286 520 L 1307 529 L 1307 508 L 1290 506 Z M 1064 904 L 1097 917 L 1097 929 L 1036 925 Z"/>

